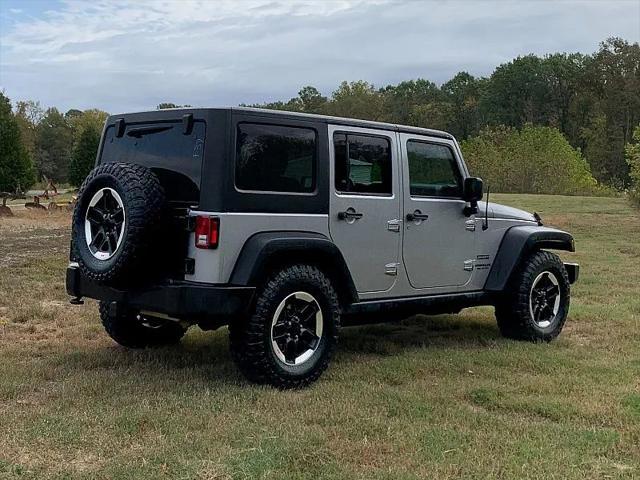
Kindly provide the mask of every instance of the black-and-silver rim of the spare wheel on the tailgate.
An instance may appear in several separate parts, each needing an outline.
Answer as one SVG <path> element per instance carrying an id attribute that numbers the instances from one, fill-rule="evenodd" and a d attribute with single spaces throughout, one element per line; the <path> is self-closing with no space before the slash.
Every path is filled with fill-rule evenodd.
<path id="1" fill-rule="evenodd" d="M 98 190 L 87 207 L 84 236 L 91 254 L 98 260 L 109 260 L 116 253 L 126 225 L 124 203 L 112 188 Z"/>

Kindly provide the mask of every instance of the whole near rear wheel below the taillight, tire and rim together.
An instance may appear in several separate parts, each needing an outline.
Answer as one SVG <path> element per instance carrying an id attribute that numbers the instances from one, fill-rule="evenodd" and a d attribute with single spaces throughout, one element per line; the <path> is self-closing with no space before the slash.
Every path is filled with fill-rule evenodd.
<path id="1" fill-rule="evenodd" d="M 267 280 L 253 315 L 229 325 L 231 354 L 251 381 L 300 388 L 327 368 L 339 327 L 330 280 L 314 266 L 293 265 Z"/>

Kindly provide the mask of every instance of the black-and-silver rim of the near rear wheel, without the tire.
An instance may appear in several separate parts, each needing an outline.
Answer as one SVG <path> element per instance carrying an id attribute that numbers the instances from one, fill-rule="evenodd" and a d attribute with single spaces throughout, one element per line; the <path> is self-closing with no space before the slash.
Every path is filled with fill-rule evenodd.
<path id="1" fill-rule="evenodd" d="M 322 309 L 313 295 L 306 292 L 288 295 L 273 314 L 273 351 L 286 365 L 306 362 L 320 345 L 322 326 Z"/>

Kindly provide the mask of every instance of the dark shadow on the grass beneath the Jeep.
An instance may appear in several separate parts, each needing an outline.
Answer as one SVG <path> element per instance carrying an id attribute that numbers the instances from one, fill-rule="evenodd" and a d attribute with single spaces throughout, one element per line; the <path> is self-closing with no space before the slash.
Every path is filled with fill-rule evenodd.
<path id="1" fill-rule="evenodd" d="M 342 329 L 338 361 L 355 361 L 352 354 L 402 355 L 422 348 L 473 349 L 495 345 L 497 326 L 485 315 L 413 316 L 393 323 L 347 326 Z M 245 385 L 229 353 L 228 332 L 190 331 L 181 344 L 128 350 L 109 343 L 90 350 L 76 350 L 59 358 L 65 369 L 126 371 L 144 382 L 178 382 L 183 386 L 214 382 Z"/>

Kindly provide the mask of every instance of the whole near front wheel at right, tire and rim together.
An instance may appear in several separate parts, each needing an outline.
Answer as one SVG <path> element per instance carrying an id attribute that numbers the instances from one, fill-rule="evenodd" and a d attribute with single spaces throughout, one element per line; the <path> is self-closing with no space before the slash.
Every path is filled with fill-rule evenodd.
<path id="1" fill-rule="evenodd" d="M 500 332 L 516 340 L 553 340 L 567 319 L 570 296 L 569 276 L 560 257 L 534 252 L 522 262 L 496 305 Z"/>

